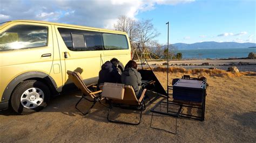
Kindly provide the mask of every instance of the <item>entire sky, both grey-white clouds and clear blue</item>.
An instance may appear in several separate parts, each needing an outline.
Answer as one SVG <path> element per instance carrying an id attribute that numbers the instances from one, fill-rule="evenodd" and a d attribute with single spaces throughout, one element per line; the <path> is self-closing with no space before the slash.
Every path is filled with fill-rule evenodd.
<path id="1" fill-rule="evenodd" d="M 152 19 L 161 33 L 156 38 L 160 44 L 166 44 L 168 21 L 171 44 L 255 42 L 255 9 L 255 0 L 0 0 L 0 22 L 32 19 L 112 29 L 117 18 L 125 15 Z"/>

